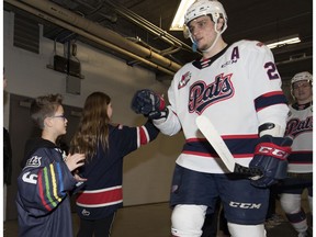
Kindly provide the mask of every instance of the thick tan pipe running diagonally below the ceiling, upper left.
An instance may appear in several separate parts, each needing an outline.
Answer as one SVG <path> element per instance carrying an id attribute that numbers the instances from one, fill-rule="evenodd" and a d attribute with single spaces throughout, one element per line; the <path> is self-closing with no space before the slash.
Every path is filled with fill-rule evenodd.
<path id="1" fill-rule="evenodd" d="M 8 1 L 8 0 L 4 0 Z M 10 1 L 9 1 L 10 2 Z M 117 33 L 105 29 L 99 24 L 95 24 L 94 22 L 83 19 L 82 16 L 68 11 L 50 1 L 47 0 L 20 0 L 19 2 L 23 2 L 29 4 L 30 7 L 36 8 L 60 21 L 66 22 L 67 24 L 70 24 L 77 29 L 81 29 L 83 32 L 88 34 L 92 34 L 93 36 L 97 36 L 103 41 L 106 41 L 111 43 L 112 45 L 115 45 L 116 48 L 123 49 L 125 52 L 129 52 L 134 55 L 137 55 L 142 57 L 143 59 L 149 60 L 154 63 L 155 65 L 160 66 L 159 68 L 166 68 L 170 71 L 177 72 L 181 65 L 171 61 L 170 59 L 162 57 L 161 55 L 147 49 L 145 47 L 142 47 L 133 42 L 127 41 L 123 36 L 119 35 Z M 38 15 L 41 16 L 41 15 Z M 80 34 L 82 35 L 82 33 Z M 86 34 L 87 35 L 87 34 Z M 84 36 L 87 37 L 87 36 Z M 113 47 L 112 47 L 113 48 Z M 122 53 L 122 50 L 121 50 Z"/>

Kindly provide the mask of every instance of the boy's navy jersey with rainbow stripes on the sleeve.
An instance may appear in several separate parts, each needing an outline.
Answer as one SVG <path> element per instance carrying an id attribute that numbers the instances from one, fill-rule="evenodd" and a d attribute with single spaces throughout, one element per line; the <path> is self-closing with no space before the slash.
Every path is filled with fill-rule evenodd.
<path id="1" fill-rule="evenodd" d="M 55 144 L 36 138 L 18 178 L 18 221 L 21 237 L 74 236 L 68 191 L 76 180 Z"/>

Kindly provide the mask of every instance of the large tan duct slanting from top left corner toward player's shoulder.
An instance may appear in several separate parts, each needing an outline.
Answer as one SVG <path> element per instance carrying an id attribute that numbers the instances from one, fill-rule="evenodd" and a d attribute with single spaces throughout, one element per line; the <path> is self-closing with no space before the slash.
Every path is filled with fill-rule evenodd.
<path id="1" fill-rule="evenodd" d="M 67 29 L 95 43 L 104 45 L 117 53 L 125 54 L 136 60 L 163 71 L 168 75 L 174 75 L 181 65 L 148 49 L 134 42 L 131 42 L 117 33 L 105 29 L 94 22 L 83 19 L 59 5 L 47 0 L 4 0 L 24 11 L 45 19 L 56 25 Z"/>

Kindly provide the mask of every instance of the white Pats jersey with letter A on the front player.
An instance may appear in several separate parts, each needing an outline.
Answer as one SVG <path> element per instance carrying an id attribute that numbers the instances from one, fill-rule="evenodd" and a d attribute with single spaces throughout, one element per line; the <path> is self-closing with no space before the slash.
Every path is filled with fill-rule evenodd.
<path id="1" fill-rule="evenodd" d="M 203 114 L 222 135 L 236 161 L 248 166 L 259 125 L 271 122 L 285 131 L 289 108 L 271 50 L 260 42 L 240 41 L 212 58 L 184 65 L 168 90 L 166 121 L 155 125 L 166 135 L 183 129 L 185 144 L 177 163 L 208 173 L 227 172 L 198 129 Z"/>

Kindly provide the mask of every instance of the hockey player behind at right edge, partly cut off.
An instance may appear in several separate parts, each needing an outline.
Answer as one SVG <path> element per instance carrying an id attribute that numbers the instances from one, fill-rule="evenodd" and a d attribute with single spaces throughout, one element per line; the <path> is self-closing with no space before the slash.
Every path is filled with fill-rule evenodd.
<path id="1" fill-rule="evenodd" d="M 285 131 L 293 139 L 287 168 L 291 178 L 283 181 L 280 202 L 298 237 L 305 237 L 308 225 L 302 207 L 304 190 L 313 214 L 313 76 L 308 71 L 296 74 L 291 80 L 291 92 L 295 102 L 290 105 Z"/>

